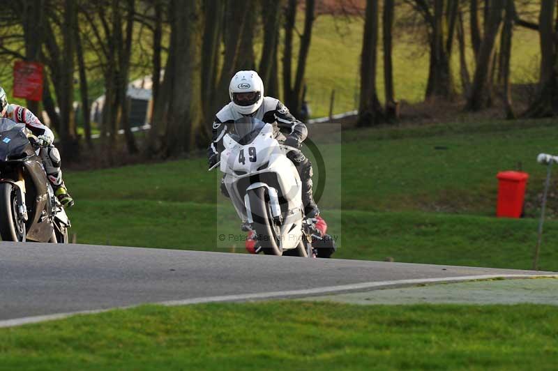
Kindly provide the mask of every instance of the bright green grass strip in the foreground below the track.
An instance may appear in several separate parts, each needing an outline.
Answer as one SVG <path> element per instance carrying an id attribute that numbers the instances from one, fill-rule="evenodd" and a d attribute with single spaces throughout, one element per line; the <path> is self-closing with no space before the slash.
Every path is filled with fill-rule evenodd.
<path id="1" fill-rule="evenodd" d="M 0 329 L 0 370 L 555 370 L 548 305 L 144 306 Z"/>

